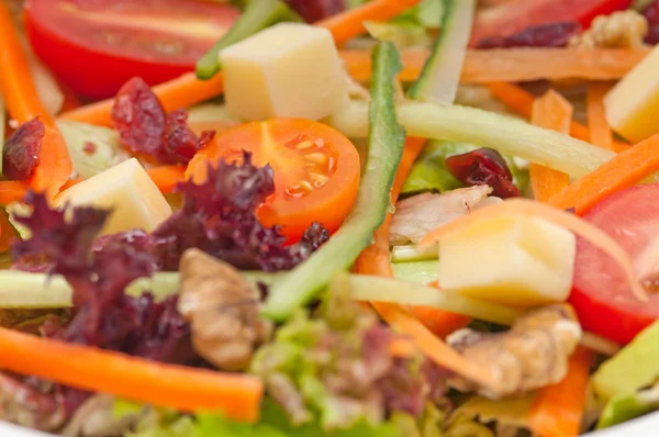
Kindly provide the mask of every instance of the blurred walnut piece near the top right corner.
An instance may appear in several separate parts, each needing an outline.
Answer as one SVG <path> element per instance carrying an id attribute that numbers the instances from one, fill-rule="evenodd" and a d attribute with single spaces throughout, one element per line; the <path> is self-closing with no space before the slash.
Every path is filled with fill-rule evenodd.
<path id="1" fill-rule="evenodd" d="M 635 10 L 595 18 L 591 27 L 570 40 L 571 47 L 634 48 L 644 45 L 648 21 Z"/>

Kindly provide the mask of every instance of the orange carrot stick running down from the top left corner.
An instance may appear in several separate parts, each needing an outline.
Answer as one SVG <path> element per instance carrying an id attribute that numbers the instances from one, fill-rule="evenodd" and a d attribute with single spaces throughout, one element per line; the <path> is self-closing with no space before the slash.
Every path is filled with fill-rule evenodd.
<path id="1" fill-rule="evenodd" d="M 53 197 L 71 175 L 71 160 L 62 134 L 36 92 L 27 56 L 4 3 L 0 4 L 0 65 L 4 67 L 0 75 L 0 90 L 11 116 L 19 123 L 40 117 L 45 125 L 40 165 L 30 186 Z"/>

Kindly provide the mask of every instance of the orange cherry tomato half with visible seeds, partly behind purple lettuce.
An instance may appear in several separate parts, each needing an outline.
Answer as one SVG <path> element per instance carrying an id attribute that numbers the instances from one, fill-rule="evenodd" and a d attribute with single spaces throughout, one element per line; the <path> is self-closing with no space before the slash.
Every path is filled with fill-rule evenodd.
<path id="1" fill-rule="evenodd" d="M 275 193 L 258 210 L 261 223 L 280 225 L 291 242 L 313 222 L 338 229 L 357 197 L 360 170 L 357 149 L 340 132 L 302 119 L 243 124 L 200 150 L 186 175 L 202 182 L 208 161 L 239 161 L 243 150 L 275 172 Z"/>

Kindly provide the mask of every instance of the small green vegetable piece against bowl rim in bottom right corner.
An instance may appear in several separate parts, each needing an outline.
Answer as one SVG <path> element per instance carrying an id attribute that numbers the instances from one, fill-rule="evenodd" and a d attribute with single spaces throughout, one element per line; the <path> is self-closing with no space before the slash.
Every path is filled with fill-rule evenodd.
<path id="1" fill-rule="evenodd" d="M 659 410 L 659 386 L 637 393 L 623 393 L 613 396 L 597 422 L 597 429 L 632 421 Z"/>

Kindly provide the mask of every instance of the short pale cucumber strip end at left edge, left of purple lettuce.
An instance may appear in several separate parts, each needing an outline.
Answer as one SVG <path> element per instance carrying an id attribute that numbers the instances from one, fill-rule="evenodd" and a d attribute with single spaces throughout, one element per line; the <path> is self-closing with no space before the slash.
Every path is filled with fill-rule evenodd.
<path id="1" fill-rule="evenodd" d="M 59 309 L 74 304 L 72 292 L 62 277 L 0 270 L 0 309 Z"/>

